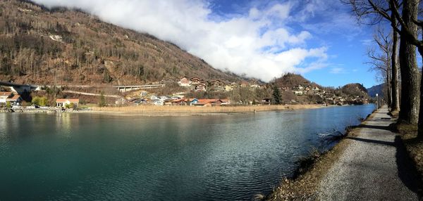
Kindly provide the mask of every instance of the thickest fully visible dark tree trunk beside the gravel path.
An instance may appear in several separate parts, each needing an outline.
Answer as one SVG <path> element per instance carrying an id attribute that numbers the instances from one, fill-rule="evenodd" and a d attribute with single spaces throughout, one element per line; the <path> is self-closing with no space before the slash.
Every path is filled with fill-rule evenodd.
<path id="1" fill-rule="evenodd" d="M 419 0 L 403 1 L 403 20 L 411 34 L 417 38 L 417 6 Z M 401 32 L 404 27 L 401 28 Z M 399 121 L 417 124 L 419 119 L 419 70 L 416 61 L 416 47 L 409 42 L 407 34 L 400 37 L 401 104 Z"/>

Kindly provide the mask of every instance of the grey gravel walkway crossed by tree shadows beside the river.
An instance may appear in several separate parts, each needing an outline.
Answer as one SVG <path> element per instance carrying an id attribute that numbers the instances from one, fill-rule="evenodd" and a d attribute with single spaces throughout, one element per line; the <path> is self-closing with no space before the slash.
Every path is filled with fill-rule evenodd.
<path id="1" fill-rule="evenodd" d="M 319 200 L 419 200 L 415 171 L 405 157 L 388 108 L 379 109 L 333 164 L 319 186 Z"/>

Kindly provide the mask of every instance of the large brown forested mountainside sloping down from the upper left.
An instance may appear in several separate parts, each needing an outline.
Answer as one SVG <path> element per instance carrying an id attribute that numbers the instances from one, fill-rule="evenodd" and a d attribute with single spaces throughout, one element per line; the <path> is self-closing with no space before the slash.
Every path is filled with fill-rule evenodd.
<path id="1" fill-rule="evenodd" d="M 174 44 L 87 13 L 0 1 L 0 80 L 111 85 L 183 76 L 240 80 Z"/>

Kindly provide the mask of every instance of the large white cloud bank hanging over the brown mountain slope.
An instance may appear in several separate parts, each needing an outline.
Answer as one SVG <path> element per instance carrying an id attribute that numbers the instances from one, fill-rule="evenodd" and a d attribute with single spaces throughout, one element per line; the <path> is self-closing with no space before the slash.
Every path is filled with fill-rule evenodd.
<path id="1" fill-rule="evenodd" d="M 290 2 L 212 20 L 212 11 L 202 0 L 32 1 L 47 7 L 80 8 L 106 22 L 171 41 L 218 69 L 264 81 L 285 72 L 326 67 L 327 48 L 307 48 L 312 34 L 288 27 Z"/>

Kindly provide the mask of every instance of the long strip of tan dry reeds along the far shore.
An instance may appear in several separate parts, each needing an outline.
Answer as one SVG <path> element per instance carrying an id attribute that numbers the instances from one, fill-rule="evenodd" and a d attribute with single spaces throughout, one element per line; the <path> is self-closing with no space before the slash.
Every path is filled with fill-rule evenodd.
<path id="1" fill-rule="evenodd" d="M 123 113 L 215 113 L 215 112 L 260 112 L 269 110 L 298 110 L 321 108 L 321 105 L 250 105 L 250 106 L 214 106 L 214 107 L 197 107 L 197 106 L 157 106 L 157 105 L 140 105 L 128 107 L 113 108 L 92 108 L 94 112 L 123 112 Z"/>

